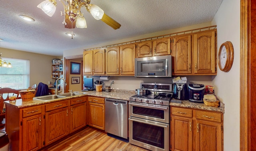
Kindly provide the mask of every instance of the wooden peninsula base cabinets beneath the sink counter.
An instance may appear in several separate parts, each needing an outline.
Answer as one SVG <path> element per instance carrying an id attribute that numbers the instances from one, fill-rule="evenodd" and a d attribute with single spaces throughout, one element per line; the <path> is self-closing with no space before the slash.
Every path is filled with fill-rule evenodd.
<path id="1" fill-rule="evenodd" d="M 32 107 L 6 104 L 10 151 L 36 151 L 86 126 L 87 97 Z"/>

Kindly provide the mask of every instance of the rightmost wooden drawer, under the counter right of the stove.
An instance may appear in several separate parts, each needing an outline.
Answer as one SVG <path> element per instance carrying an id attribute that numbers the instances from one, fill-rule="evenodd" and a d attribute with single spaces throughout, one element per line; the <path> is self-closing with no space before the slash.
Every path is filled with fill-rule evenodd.
<path id="1" fill-rule="evenodd" d="M 212 113 L 207 111 L 196 111 L 196 119 L 221 122 L 221 113 Z"/>

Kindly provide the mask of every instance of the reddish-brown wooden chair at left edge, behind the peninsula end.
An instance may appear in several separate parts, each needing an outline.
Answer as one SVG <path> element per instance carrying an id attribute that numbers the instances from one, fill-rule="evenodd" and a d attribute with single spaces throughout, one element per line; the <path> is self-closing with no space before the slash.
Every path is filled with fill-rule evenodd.
<path id="1" fill-rule="evenodd" d="M 16 95 L 16 99 L 18 99 L 20 96 L 19 90 L 11 89 L 9 87 L 4 87 L 0 89 L 0 127 L 4 126 L 5 123 L 3 122 L 5 118 L 5 107 L 4 107 L 4 101 L 9 100 L 9 95 Z"/>

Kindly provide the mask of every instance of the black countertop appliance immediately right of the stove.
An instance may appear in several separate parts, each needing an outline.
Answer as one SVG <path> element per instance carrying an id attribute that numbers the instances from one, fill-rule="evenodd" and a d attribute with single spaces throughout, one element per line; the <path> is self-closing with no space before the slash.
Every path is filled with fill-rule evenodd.
<path id="1" fill-rule="evenodd" d="M 174 99 L 186 100 L 188 99 L 188 86 L 186 83 L 174 83 L 173 87 Z"/>

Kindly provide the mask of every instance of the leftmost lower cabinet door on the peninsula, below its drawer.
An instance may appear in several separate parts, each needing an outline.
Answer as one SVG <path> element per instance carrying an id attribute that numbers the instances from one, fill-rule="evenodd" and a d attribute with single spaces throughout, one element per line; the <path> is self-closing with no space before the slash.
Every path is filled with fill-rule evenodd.
<path id="1" fill-rule="evenodd" d="M 42 130 L 42 114 L 22 119 L 22 151 L 36 151 L 42 147 Z"/>

